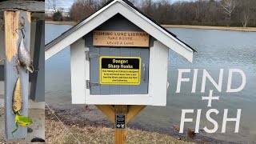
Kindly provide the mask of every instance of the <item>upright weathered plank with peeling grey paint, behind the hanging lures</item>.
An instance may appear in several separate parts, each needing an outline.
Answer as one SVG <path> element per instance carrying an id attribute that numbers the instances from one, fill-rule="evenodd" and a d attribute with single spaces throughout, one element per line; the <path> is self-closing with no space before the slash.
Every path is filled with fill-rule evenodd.
<path id="1" fill-rule="evenodd" d="M 11 132 L 15 129 L 15 114 L 12 110 L 12 96 L 15 82 L 18 78 L 17 70 L 14 67 L 15 61 L 18 58 L 18 44 L 22 38 L 18 23 L 25 19 L 26 38 L 24 40 L 26 47 L 30 47 L 30 13 L 26 11 L 5 11 L 5 43 L 6 43 L 6 60 L 5 60 L 5 130 L 7 139 L 25 138 L 27 134 L 27 127 L 19 126 L 18 130 L 14 133 Z M 28 91 L 29 91 L 29 73 L 25 70 L 19 69 L 19 77 L 22 85 L 22 110 L 21 114 L 28 115 Z"/>

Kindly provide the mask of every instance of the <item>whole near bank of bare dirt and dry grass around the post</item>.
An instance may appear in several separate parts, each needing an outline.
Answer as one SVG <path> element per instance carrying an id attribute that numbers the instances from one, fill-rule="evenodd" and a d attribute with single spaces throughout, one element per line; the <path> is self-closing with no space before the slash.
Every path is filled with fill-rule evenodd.
<path id="1" fill-rule="evenodd" d="M 114 143 L 113 124 L 95 106 L 50 106 L 50 109 L 46 107 L 46 143 Z M 208 143 L 129 126 L 127 130 L 127 143 L 198 142 Z"/>

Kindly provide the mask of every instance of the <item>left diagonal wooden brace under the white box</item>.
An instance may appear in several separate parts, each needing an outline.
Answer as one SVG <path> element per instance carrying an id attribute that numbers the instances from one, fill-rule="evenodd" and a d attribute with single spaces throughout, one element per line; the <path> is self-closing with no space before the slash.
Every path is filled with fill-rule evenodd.
<path id="1" fill-rule="evenodd" d="M 114 106 L 112 105 L 95 105 L 98 110 L 101 110 L 103 114 L 106 114 L 106 117 L 114 123 Z"/>

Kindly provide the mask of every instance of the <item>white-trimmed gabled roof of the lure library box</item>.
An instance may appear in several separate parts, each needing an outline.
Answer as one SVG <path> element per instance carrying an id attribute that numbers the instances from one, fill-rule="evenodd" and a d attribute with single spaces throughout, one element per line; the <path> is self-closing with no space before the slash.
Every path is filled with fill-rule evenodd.
<path id="1" fill-rule="evenodd" d="M 71 27 L 70 30 L 66 30 L 58 38 L 46 44 L 46 60 L 57 54 L 60 50 L 63 50 L 66 46 L 70 46 L 70 44 L 79 38 L 82 38 L 82 36 L 88 34 L 115 14 L 122 14 L 123 17 L 133 22 L 134 25 L 140 27 L 159 42 L 162 42 L 162 44 L 192 62 L 193 52 L 195 50 L 191 46 L 182 42 L 175 34 L 160 26 L 146 14 L 143 14 L 141 10 L 138 10 L 128 0 L 110 0 L 94 14 L 84 18 L 82 22 L 79 22 L 77 25 Z"/>

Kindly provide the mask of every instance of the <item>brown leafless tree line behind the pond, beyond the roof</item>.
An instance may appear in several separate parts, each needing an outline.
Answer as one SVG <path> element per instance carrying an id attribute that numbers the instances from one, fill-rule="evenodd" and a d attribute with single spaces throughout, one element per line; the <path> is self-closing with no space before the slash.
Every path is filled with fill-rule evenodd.
<path id="1" fill-rule="evenodd" d="M 70 20 L 81 21 L 109 0 L 76 0 Z M 256 0 L 130 0 L 156 22 L 166 25 L 256 26 Z"/>

